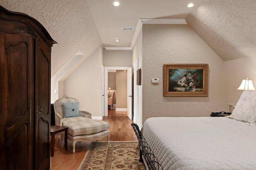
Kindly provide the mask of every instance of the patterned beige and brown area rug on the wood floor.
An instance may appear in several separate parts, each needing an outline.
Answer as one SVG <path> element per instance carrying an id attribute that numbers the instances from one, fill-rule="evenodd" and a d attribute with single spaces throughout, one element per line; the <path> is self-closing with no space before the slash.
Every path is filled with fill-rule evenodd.
<path id="1" fill-rule="evenodd" d="M 146 170 L 137 142 L 92 142 L 78 170 Z"/>

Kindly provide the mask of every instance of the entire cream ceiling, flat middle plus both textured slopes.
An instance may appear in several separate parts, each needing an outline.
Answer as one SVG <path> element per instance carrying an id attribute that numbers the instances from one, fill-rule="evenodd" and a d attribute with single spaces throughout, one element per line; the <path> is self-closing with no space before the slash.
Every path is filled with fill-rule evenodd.
<path id="1" fill-rule="evenodd" d="M 131 47 L 140 18 L 185 19 L 223 61 L 256 57 L 255 0 L 0 0 L 11 11 L 38 20 L 58 42 L 52 48 L 52 76 L 81 51 Z M 189 2 L 194 8 L 186 8 Z M 134 27 L 134 31 L 122 31 Z M 119 42 L 115 42 L 119 38 Z"/>

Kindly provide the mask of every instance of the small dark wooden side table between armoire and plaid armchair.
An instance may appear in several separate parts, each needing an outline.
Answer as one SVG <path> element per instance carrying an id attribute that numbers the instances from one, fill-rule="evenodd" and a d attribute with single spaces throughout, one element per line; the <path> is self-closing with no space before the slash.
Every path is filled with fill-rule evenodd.
<path id="1" fill-rule="evenodd" d="M 55 134 L 63 132 L 63 131 L 65 132 L 65 150 L 68 150 L 68 127 L 51 125 L 51 136 L 52 136 L 51 152 L 52 152 L 52 157 L 54 156 Z"/>

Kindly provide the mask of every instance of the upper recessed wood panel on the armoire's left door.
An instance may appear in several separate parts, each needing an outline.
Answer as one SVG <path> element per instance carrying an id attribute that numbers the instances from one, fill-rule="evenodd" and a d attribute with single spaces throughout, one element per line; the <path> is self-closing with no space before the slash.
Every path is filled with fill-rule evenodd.
<path id="1" fill-rule="evenodd" d="M 13 37 L 13 36 L 12 36 Z M 16 37 L 16 36 L 15 36 Z M 22 36 L 23 37 L 23 36 Z M 30 37 L 31 39 L 31 37 Z M 29 41 L 29 40 L 27 40 Z M 26 42 L 6 41 L 6 57 L 8 72 L 8 115 L 6 117 L 6 127 L 11 127 L 21 117 L 29 115 L 28 87 L 31 78 L 28 68 L 29 46 Z"/>

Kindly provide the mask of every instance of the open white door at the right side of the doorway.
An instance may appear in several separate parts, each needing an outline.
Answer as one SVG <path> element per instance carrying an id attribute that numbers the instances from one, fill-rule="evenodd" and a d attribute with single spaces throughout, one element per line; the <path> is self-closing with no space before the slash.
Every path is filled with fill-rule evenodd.
<path id="1" fill-rule="evenodd" d="M 132 120 L 132 67 L 127 70 L 127 116 Z"/>

